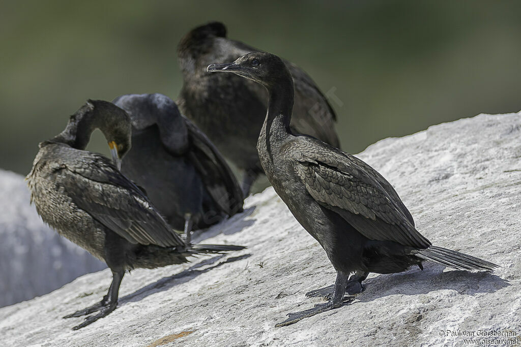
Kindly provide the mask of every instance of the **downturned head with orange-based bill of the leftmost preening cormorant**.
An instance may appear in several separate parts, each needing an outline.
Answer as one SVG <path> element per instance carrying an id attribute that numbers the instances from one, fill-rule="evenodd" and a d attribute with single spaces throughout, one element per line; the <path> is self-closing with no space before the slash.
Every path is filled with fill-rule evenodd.
<path id="1" fill-rule="evenodd" d="M 120 170 L 121 159 L 131 147 L 132 127 L 127 112 L 104 100 L 88 100 L 85 106 L 92 110 L 92 130 L 99 128 L 105 135 L 114 164 Z"/>

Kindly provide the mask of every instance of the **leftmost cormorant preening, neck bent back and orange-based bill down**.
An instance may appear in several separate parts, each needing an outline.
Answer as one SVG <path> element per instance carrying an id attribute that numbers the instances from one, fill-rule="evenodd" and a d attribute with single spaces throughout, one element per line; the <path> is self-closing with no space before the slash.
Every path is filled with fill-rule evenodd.
<path id="1" fill-rule="evenodd" d="M 127 270 L 180 264 L 193 254 L 244 248 L 185 243 L 110 160 L 84 150 L 95 128 L 103 132 L 119 163 L 130 149 L 130 119 L 110 102 L 89 100 L 70 117 L 63 132 L 40 144 L 27 175 L 31 202 L 43 221 L 105 261 L 113 274 L 102 301 L 64 317 L 99 311 L 74 330 L 116 309 Z"/>

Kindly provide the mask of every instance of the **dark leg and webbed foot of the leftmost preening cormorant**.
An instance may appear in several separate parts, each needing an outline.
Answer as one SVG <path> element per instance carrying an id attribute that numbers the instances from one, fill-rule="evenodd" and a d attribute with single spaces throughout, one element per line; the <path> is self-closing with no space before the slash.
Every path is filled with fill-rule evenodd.
<path id="1" fill-rule="evenodd" d="M 91 323 L 96 322 L 96 320 L 105 317 L 110 312 L 114 311 L 116 309 L 116 306 L 118 304 L 118 291 L 119 291 L 119 285 L 121 284 L 121 280 L 123 279 L 123 275 L 125 275 L 125 272 L 120 271 L 112 272 L 112 283 L 110 284 L 110 288 L 108 288 L 108 293 L 103 297 L 103 300 L 87 307 L 84 310 L 77 311 L 73 314 L 67 315 L 64 318 L 71 318 L 71 317 L 80 317 L 84 316 L 86 314 L 90 314 L 96 311 L 100 311 L 100 313 L 89 316 L 85 318 L 85 321 L 81 323 L 80 325 L 75 326 L 72 328 L 72 330 L 78 330 L 80 328 L 86 327 Z"/>

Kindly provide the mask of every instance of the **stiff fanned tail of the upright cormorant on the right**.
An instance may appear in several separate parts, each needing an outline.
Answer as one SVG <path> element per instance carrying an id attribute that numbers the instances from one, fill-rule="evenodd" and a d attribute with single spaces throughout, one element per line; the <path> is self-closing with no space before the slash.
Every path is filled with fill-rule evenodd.
<path id="1" fill-rule="evenodd" d="M 494 263 L 476 258 L 475 256 L 436 246 L 430 246 L 426 249 L 415 249 L 413 254 L 418 258 L 443 264 L 458 270 L 492 270 L 498 267 L 498 265 Z"/>

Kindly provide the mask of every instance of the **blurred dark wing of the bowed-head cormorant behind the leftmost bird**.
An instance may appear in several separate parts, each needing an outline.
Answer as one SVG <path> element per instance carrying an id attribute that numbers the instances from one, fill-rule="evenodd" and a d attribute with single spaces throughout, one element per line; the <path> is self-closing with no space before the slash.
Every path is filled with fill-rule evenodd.
<path id="1" fill-rule="evenodd" d="M 210 196 L 229 216 L 242 212 L 244 197 L 230 167 L 208 137 L 184 118 L 190 137 L 190 161 L 201 174 Z"/>

